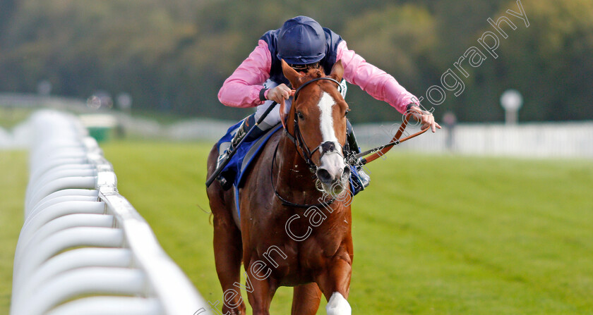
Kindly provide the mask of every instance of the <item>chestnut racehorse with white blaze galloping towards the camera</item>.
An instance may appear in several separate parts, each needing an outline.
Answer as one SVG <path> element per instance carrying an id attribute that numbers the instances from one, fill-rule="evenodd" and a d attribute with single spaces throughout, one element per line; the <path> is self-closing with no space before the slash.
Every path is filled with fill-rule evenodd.
<path id="1" fill-rule="evenodd" d="M 270 314 L 280 286 L 294 287 L 292 314 L 316 314 L 322 293 L 328 314 L 351 314 L 352 214 L 339 201 L 350 193 L 343 152 L 348 105 L 337 84 L 344 68 L 338 61 L 326 77 L 321 69 L 297 73 L 282 61 L 282 70 L 296 94 L 285 132 L 270 137 L 241 188 L 240 219 L 233 190 L 217 182 L 207 190 L 222 314 L 246 314 L 240 288 L 253 314 Z M 284 121 L 284 104 L 280 113 Z M 215 146 L 208 177 L 217 155 Z M 241 261 L 246 285 L 239 284 Z"/>

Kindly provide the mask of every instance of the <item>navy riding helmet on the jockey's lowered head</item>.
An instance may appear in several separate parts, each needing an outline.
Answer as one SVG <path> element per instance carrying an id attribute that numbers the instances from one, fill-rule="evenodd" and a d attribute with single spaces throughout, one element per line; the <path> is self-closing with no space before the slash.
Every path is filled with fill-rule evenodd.
<path id="1" fill-rule="evenodd" d="M 316 63 L 325 57 L 325 42 L 325 32 L 316 20 L 297 16 L 282 25 L 277 56 L 294 65 Z"/>

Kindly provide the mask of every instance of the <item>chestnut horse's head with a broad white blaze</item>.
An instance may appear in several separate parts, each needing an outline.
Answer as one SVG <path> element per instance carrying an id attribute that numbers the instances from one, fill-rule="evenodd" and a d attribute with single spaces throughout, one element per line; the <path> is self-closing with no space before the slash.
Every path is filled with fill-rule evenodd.
<path id="1" fill-rule="evenodd" d="M 284 128 L 294 137 L 299 153 L 317 175 L 323 190 L 340 194 L 348 187 L 350 168 L 344 157 L 346 143 L 346 114 L 348 104 L 338 90 L 344 68 L 337 61 L 329 76 L 321 68 L 307 73 L 296 72 L 282 61 L 284 76 L 296 89 L 292 107 L 284 117 Z"/>

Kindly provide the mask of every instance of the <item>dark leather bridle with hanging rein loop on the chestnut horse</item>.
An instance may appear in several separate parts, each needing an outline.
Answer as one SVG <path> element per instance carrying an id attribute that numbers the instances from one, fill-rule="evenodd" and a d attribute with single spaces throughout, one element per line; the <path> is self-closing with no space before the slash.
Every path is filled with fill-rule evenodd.
<path id="1" fill-rule="evenodd" d="M 299 92 L 301 92 L 301 90 L 304 87 L 306 87 L 307 85 L 310 85 L 313 82 L 319 81 L 319 80 L 329 80 L 329 81 L 335 82 L 335 84 L 337 84 L 338 91 L 339 92 L 342 92 L 342 85 L 340 85 L 340 82 L 337 82 L 337 80 L 335 80 L 333 78 L 329 78 L 329 77 L 315 78 L 313 80 L 309 80 L 309 81 L 305 82 L 298 89 L 296 89 L 296 91 L 294 92 L 294 99 L 292 101 L 292 106 L 294 106 L 294 103 L 296 102 L 296 98 L 299 97 Z M 311 171 L 311 173 L 315 174 L 316 171 L 317 171 L 317 166 L 315 165 L 315 163 L 313 163 L 313 160 L 311 159 L 311 157 L 320 148 L 323 148 L 326 145 L 326 142 L 322 142 L 321 144 L 319 144 L 312 151 L 309 150 L 309 147 L 306 145 L 305 140 L 303 138 L 303 135 L 301 134 L 301 129 L 299 128 L 299 118 L 296 115 L 296 113 L 294 115 L 294 131 L 293 131 L 294 132 L 294 135 L 291 135 L 290 134 L 290 132 L 288 131 L 288 129 L 286 127 L 286 124 L 284 124 L 284 121 L 282 121 L 282 126 L 284 127 L 284 133 L 287 135 L 287 137 L 289 138 L 289 140 L 291 140 L 294 143 L 294 146 L 296 147 L 296 152 L 299 152 L 299 155 L 301 155 L 300 152 L 302 152 L 301 157 L 304 159 L 304 161 L 307 164 L 307 166 L 309 166 L 309 171 Z M 271 163 L 271 168 L 270 168 L 270 180 L 272 182 L 272 187 L 274 188 L 274 193 L 276 194 L 276 197 L 278 197 L 278 199 L 280 199 L 280 201 L 282 202 L 282 204 L 284 206 L 294 206 L 294 207 L 297 207 L 297 208 L 311 208 L 311 206 L 317 206 L 317 207 L 319 207 L 319 206 L 328 206 L 328 205 L 332 204 L 335 201 L 335 196 L 333 196 L 332 199 L 330 199 L 330 200 L 328 200 L 326 202 L 321 202 L 319 204 L 296 204 L 294 202 L 289 202 L 287 199 L 284 199 L 282 196 L 280 196 L 280 194 L 278 193 L 278 191 L 276 190 L 276 187 L 274 185 L 274 178 L 273 178 L 273 176 L 274 176 L 274 164 L 275 164 L 275 161 L 276 161 L 276 153 L 278 151 L 279 144 L 280 144 L 280 142 L 278 142 L 276 144 L 276 149 L 275 149 L 274 155 L 272 157 L 272 163 Z M 323 154 L 325 154 L 326 152 L 329 152 L 329 150 L 323 149 L 323 151 L 321 152 L 321 156 L 319 157 L 319 159 L 321 159 L 321 157 L 323 157 Z M 344 156 L 344 148 L 342 147 L 342 157 L 343 156 Z M 318 190 L 320 190 L 320 189 L 318 188 Z"/>

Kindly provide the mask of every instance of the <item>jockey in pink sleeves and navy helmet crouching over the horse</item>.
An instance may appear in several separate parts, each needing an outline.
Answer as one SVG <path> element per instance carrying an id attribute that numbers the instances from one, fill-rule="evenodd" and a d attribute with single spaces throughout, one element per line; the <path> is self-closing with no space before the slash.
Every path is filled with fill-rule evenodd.
<path id="1" fill-rule="evenodd" d="M 414 109 L 418 112 L 417 119 L 421 121 L 423 128 L 430 125 L 433 132 L 436 128 L 441 128 L 431 113 L 419 109 L 417 98 L 407 92 L 393 76 L 367 63 L 364 58 L 349 50 L 346 41 L 340 35 L 321 27 L 312 18 L 297 16 L 287 20 L 282 28 L 266 32 L 259 39 L 256 49 L 224 81 L 218 92 L 218 99 L 226 106 L 257 107 L 256 112 L 247 116 L 241 123 L 231 143 L 221 144 L 219 163 L 224 161 L 227 153 L 253 128 L 273 101 L 278 104 L 286 101 L 288 111 L 292 103 L 292 90 L 282 74 L 282 59 L 297 71 L 321 66 L 326 75 L 329 75 L 336 61 L 341 59 L 344 66 L 342 96 L 345 97 L 346 94 L 345 82 L 349 82 L 358 85 L 375 99 L 388 102 L 400 113 Z M 252 139 L 247 140 L 256 139 L 280 123 L 279 110 L 280 106 L 275 106 L 263 122 L 255 127 L 256 130 L 251 132 L 249 137 Z M 347 125 L 349 147 L 359 153 L 352 125 L 349 122 Z M 369 185 L 369 175 L 360 167 L 357 167 L 357 171 L 361 184 L 364 187 Z"/>

